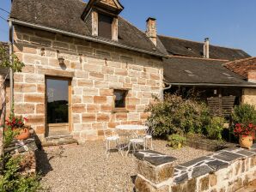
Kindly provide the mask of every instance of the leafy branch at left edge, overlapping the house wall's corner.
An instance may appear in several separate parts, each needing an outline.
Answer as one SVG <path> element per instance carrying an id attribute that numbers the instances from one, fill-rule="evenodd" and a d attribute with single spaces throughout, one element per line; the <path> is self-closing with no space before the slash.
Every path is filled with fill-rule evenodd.
<path id="1" fill-rule="evenodd" d="M 21 72 L 21 69 L 25 66 L 24 63 L 21 63 L 19 58 L 12 54 L 13 63 L 9 61 L 9 53 L 4 49 L 3 46 L 0 46 L 0 67 L 6 69 L 13 69 L 14 72 Z"/>

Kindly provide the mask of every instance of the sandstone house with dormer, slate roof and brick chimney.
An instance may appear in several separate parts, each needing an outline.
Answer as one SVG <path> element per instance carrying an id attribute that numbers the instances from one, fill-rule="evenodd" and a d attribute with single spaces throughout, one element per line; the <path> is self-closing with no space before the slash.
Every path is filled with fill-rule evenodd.
<path id="1" fill-rule="evenodd" d="M 154 19 L 143 33 L 123 9 L 117 0 L 13 1 L 14 52 L 26 65 L 14 75 L 15 114 L 41 141 L 95 140 L 148 117 L 152 94 L 162 93 L 164 49 Z"/>

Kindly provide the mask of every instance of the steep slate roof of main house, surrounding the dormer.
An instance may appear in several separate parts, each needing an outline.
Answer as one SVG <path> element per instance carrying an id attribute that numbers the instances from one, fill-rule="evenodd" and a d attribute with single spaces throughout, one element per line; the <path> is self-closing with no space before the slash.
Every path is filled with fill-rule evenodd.
<path id="1" fill-rule="evenodd" d="M 86 3 L 81 0 L 14 0 L 10 18 L 88 36 L 101 42 L 111 42 L 113 45 L 137 48 L 153 55 L 162 55 L 164 50 L 155 48 L 145 33 L 122 17 L 119 17 L 119 42 L 93 37 L 90 17 L 88 21 L 81 19 L 85 7 Z"/>

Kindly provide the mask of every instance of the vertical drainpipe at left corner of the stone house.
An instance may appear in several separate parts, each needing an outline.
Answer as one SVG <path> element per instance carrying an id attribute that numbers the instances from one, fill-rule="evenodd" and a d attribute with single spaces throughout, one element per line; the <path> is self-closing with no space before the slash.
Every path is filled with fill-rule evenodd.
<path id="1" fill-rule="evenodd" d="M 9 20 L 9 62 L 13 63 L 13 23 Z M 14 105 L 14 73 L 13 70 L 9 70 L 9 88 L 10 88 L 10 112 L 13 112 Z"/>

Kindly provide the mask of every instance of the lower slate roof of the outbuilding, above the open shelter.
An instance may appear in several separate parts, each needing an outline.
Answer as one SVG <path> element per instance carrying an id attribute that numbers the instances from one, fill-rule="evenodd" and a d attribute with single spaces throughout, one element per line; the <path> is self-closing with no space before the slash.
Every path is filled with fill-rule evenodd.
<path id="1" fill-rule="evenodd" d="M 164 62 L 164 79 L 171 84 L 255 85 L 223 66 L 223 61 L 170 57 Z"/>

